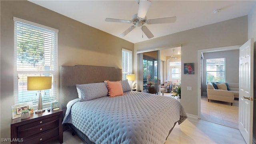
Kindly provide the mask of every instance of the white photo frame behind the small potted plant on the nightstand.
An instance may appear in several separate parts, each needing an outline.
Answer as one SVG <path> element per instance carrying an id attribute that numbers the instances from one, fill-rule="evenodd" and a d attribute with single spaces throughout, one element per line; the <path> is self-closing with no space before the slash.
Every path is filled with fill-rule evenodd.
<path id="1" fill-rule="evenodd" d="M 33 114 L 34 113 L 34 108 L 33 108 L 33 103 L 32 102 L 25 102 L 25 103 L 22 103 L 22 104 L 16 104 L 16 105 L 11 106 L 12 119 L 20 118 L 20 114 L 21 114 L 20 110 L 23 110 L 22 108 L 27 108 L 27 107 L 28 107 L 28 109 L 30 109 L 30 114 Z"/>

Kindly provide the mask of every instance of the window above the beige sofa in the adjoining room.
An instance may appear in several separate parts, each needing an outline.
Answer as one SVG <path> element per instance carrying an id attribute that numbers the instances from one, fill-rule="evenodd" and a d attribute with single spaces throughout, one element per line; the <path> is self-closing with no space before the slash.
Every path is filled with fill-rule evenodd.
<path id="1" fill-rule="evenodd" d="M 206 83 L 225 82 L 225 58 L 206 60 Z"/>

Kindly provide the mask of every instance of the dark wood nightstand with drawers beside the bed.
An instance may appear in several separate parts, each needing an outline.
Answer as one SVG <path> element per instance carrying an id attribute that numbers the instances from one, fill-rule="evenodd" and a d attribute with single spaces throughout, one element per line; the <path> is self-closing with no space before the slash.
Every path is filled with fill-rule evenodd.
<path id="1" fill-rule="evenodd" d="M 47 110 L 43 113 L 30 114 L 30 118 L 16 118 L 11 121 L 12 144 L 39 144 L 59 140 L 63 143 L 63 111 Z"/>

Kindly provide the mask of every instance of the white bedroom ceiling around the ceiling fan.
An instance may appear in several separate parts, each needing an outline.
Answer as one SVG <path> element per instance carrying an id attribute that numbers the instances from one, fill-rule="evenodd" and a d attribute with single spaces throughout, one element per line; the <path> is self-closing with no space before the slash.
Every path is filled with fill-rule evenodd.
<path id="1" fill-rule="evenodd" d="M 64 16 L 119 36 L 133 24 L 105 22 L 105 18 L 131 20 L 138 12 L 136 0 L 29 0 L 35 4 L 58 12 Z M 170 24 L 145 24 L 154 34 L 154 38 L 200 26 L 245 16 L 249 13 L 254 0 L 151 0 L 147 19 L 176 16 L 176 22 Z M 218 13 L 214 10 L 221 9 Z M 123 38 L 132 43 L 148 40 L 142 30 L 136 27 Z M 152 39 L 152 38 L 151 38 Z"/>

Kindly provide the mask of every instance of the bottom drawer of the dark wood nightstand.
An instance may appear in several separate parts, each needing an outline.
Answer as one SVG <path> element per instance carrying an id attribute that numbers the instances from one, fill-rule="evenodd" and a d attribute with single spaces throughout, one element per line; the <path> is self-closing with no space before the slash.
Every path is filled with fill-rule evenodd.
<path id="1" fill-rule="evenodd" d="M 24 138 L 24 141 L 21 143 L 19 142 L 19 144 L 40 144 L 55 136 L 58 136 L 58 128 L 43 132 L 42 134 L 36 135 L 34 137 Z"/>

